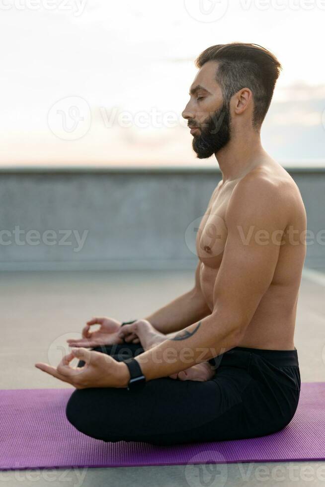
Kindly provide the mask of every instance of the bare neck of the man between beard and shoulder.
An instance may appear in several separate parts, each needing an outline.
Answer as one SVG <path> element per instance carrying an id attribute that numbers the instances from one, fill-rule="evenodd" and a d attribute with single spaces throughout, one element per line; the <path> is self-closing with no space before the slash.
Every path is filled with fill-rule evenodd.
<path id="1" fill-rule="evenodd" d="M 236 135 L 215 153 L 223 183 L 244 176 L 265 158 L 259 132 L 236 131 Z"/>

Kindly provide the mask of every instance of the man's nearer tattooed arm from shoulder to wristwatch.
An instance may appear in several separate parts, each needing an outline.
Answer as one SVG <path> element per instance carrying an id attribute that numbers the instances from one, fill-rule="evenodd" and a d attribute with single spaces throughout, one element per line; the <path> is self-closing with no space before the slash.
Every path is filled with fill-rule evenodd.
<path id="1" fill-rule="evenodd" d="M 228 237 L 212 314 L 135 357 L 147 381 L 185 370 L 240 343 L 272 282 L 287 225 L 285 207 L 282 192 L 266 178 L 247 175 L 238 183 L 226 213 Z M 120 367 L 127 385 L 127 366 Z"/>

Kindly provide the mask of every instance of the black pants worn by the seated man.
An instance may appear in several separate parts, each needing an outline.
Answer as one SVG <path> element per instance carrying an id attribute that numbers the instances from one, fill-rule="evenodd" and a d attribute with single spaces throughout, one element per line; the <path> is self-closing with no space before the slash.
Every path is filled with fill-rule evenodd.
<path id="1" fill-rule="evenodd" d="M 117 361 L 144 351 L 134 343 L 93 350 Z M 216 369 L 206 382 L 162 377 L 138 392 L 76 389 L 67 418 L 93 438 L 156 445 L 253 438 L 279 431 L 291 421 L 301 384 L 296 348 L 235 347 L 209 362 Z"/>

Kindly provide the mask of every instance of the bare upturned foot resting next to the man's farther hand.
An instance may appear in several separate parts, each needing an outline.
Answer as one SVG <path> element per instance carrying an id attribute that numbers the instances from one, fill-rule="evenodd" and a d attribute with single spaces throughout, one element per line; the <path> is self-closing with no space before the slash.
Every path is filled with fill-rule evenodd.
<path id="1" fill-rule="evenodd" d="M 156 330 L 148 320 L 137 320 L 130 325 L 123 325 L 119 330 L 118 336 L 124 336 L 125 341 L 127 341 L 128 336 L 137 336 L 144 350 L 149 350 L 162 341 L 167 340 L 166 335 Z"/>

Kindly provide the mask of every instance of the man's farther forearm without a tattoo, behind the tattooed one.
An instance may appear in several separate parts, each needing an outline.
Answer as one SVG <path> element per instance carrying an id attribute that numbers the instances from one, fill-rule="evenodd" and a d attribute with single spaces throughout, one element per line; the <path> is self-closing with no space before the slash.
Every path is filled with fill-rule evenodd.
<path id="1" fill-rule="evenodd" d="M 211 314 L 199 290 L 192 289 L 144 318 L 161 333 L 179 331 Z"/>

